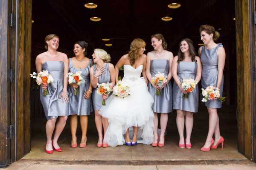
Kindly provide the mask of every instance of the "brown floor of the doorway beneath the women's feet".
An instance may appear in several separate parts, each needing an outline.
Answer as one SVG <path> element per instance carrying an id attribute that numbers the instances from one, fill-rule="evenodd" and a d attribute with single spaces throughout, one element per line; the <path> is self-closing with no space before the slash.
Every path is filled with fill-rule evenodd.
<path id="1" fill-rule="evenodd" d="M 194 114 L 192 131 L 192 148 L 178 147 L 179 135 L 176 126 L 176 112 L 169 113 L 167 134 L 164 147 L 137 144 L 137 146 L 97 147 L 98 134 L 94 122 L 94 114 L 89 118 L 87 130 L 87 146 L 71 148 L 70 123 L 61 134 L 58 144 L 62 152 L 45 152 L 46 118 L 32 119 L 31 122 L 31 153 L 17 163 L 29 164 L 114 164 L 114 165 L 155 165 L 155 164 L 197 164 L 197 165 L 228 165 L 253 164 L 237 151 L 236 107 L 223 105 L 218 110 L 221 135 L 224 137 L 224 148 L 221 144 L 215 150 L 202 152 L 200 149 L 208 133 L 209 114 L 204 104 L 200 104 L 198 113 Z M 185 136 L 186 137 L 186 136 Z M 78 146 L 81 140 L 81 127 L 77 132 Z"/>

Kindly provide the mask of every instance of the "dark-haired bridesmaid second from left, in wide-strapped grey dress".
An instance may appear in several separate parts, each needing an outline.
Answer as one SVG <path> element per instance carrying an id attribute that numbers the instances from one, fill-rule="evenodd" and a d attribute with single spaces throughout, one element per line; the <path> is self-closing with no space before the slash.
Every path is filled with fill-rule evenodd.
<path id="1" fill-rule="evenodd" d="M 86 133 L 88 125 L 88 116 L 90 112 L 93 111 L 91 92 L 93 87 L 90 85 L 90 67 L 93 65 L 93 60 L 88 59 L 87 54 L 88 44 L 85 41 L 76 42 L 74 45 L 75 57 L 69 58 L 69 70 L 72 73 L 81 71 L 81 75 L 85 80 L 85 83 L 82 83 L 80 86 L 76 83 L 69 84 L 69 114 L 70 116 L 70 128 L 71 128 L 71 147 L 77 147 L 76 142 L 76 129 L 77 129 L 77 117 L 80 116 L 80 125 L 82 129 L 82 138 L 80 147 L 86 146 Z M 79 88 L 79 94 L 73 95 L 74 90 Z"/>

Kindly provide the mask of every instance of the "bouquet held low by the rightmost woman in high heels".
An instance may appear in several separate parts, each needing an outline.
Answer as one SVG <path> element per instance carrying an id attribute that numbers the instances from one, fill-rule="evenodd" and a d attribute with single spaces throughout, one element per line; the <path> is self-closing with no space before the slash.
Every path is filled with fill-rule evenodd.
<path id="1" fill-rule="evenodd" d="M 210 84 L 210 86 L 208 86 L 205 90 L 202 88 L 202 94 L 204 96 L 202 102 L 207 102 L 207 100 L 214 99 L 219 99 L 221 102 L 224 102 L 226 98 L 220 96 L 220 91 L 215 87 L 215 84 Z"/>

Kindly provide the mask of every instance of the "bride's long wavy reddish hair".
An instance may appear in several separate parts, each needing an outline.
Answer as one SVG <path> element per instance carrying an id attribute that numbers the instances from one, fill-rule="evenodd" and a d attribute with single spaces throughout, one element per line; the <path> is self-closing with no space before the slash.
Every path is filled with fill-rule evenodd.
<path id="1" fill-rule="evenodd" d="M 137 38 L 131 42 L 131 48 L 128 52 L 128 59 L 131 63 L 131 66 L 134 65 L 135 61 L 139 58 L 136 54 L 140 51 L 141 48 L 145 48 L 146 43 L 140 38 Z"/>

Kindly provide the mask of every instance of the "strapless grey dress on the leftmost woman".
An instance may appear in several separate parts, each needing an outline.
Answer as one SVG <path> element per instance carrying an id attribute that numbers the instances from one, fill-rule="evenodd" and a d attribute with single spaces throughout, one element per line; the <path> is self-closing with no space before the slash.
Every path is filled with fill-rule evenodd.
<path id="1" fill-rule="evenodd" d="M 62 97 L 59 99 L 63 90 L 63 62 L 47 61 L 42 65 L 42 70 L 48 70 L 54 79 L 53 82 L 48 84 L 49 94 L 47 96 L 43 96 L 43 89 L 40 87 L 40 100 L 47 120 L 58 116 L 68 116 L 69 105 L 66 102 L 62 103 Z"/>

